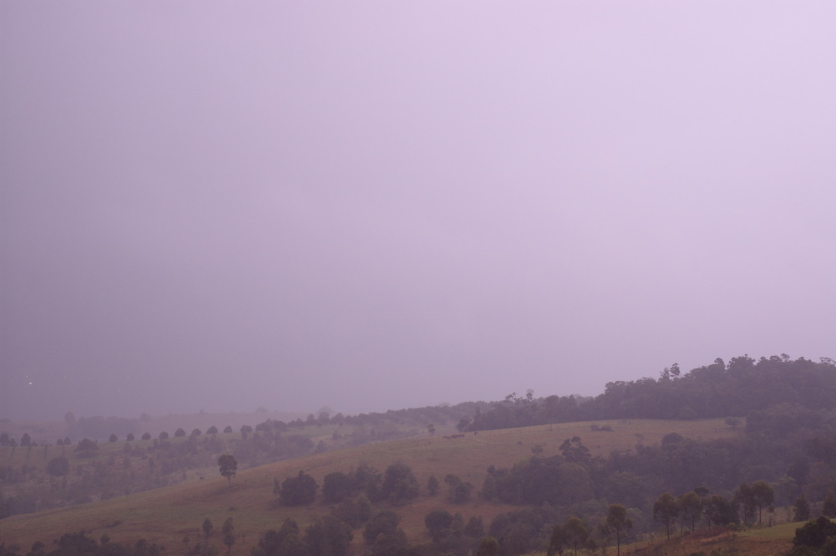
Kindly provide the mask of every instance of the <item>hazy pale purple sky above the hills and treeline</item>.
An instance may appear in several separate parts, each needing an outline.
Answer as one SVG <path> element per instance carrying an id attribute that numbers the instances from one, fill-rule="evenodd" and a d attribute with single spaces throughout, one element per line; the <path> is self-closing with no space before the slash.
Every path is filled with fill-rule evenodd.
<path id="1" fill-rule="evenodd" d="M 834 21 L 0 0 L 0 417 L 836 357 Z"/>

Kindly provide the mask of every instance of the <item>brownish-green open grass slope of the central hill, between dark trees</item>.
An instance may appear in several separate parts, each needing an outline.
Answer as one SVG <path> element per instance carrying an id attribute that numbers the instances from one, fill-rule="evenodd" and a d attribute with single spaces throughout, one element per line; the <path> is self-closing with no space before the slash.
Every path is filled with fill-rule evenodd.
<path id="1" fill-rule="evenodd" d="M 191 543 L 202 541 L 200 528 L 205 518 L 210 518 L 215 527 L 220 528 L 227 517 L 232 517 L 239 536 L 232 553 L 247 554 L 264 531 L 278 528 L 284 518 L 292 517 L 304 528 L 315 518 L 329 513 L 331 507 L 319 499 L 298 508 L 277 507 L 274 504 L 273 479 L 282 481 L 296 475 L 299 470 L 308 472 L 321 484 L 327 473 L 348 472 L 361 462 L 381 471 L 393 462 L 406 462 L 422 486 L 426 485 L 431 475 L 443 479 L 448 473 L 454 473 L 478 488 L 489 465 L 510 467 L 514 462 L 530 457 L 534 446 L 542 446 L 543 456 L 555 455 L 558 446 L 572 436 L 579 436 L 593 455 L 598 455 L 612 450 L 627 450 L 640 442 L 655 444 L 670 432 L 701 440 L 741 434 L 741 431 L 726 426 L 721 419 L 598 421 L 596 424 L 609 426 L 612 431 L 593 431 L 591 423 L 587 422 L 482 431 L 458 438 L 425 435 L 378 442 L 253 467 L 239 472 L 232 487 L 227 487 L 226 479 L 220 477 L 217 468 L 207 469 L 206 479 L 203 480 L 195 478 L 173 487 L 6 518 L 0 522 L 0 542 L 18 544 L 25 551 L 36 540 L 50 543 L 61 533 L 84 529 L 94 538 L 106 533 L 116 542 L 133 543 L 138 538 L 145 538 L 165 544 L 172 553 L 181 550 L 186 536 Z M 390 508 L 390 505 L 387 502 L 375 505 L 375 510 L 383 508 Z M 474 497 L 472 502 L 453 506 L 446 502 L 442 493 L 434 497 L 422 495 L 405 506 L 395 508 L 401 515 L 401 527 L 410 542 L 420 543 L 429 539 L 424 517 L 435 509 L 461 512 L 465 518 L 482 516 L 487 526 L 497 514 L 519 507 L 485 502 L 478 497 Z M 354 545 L 359 548 L 362 543 L 359 531 L 354 536 Z M 210 542 L 225 549 L 220 533 L 215 533 Z"/>

